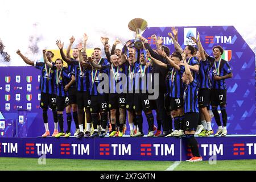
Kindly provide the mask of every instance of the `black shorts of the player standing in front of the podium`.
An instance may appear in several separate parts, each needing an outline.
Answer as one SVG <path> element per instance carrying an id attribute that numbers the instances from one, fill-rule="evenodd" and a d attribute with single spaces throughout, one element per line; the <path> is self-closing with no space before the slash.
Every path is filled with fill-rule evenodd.
<path id="1" fill-rule="evenodd" d="M 196 131 L 198 120 L 199 113 L 185 113 L 184 131 Z"/>

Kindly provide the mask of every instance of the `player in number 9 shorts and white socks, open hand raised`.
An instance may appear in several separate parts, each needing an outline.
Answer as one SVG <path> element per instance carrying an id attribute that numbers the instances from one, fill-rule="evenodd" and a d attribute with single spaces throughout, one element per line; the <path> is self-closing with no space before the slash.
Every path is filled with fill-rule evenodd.
<path id="1" fill-rule="evenodd" d="M 77 138 L 81 137 L 90 137 L 90 126 L 91 126 L 91 120 L 90 120 L 90 95 L 88 91 L 88 72 L 86 69 L 82 68 L 79 60 L 79 52 L 82 51 L 82 45 L 79 44 L 79 48 L 75 48 L 73 50 L 73 56 L 76 60 L 69 59 L 67 56 L 65 56 L 63 52 L 63 43 L 61 43 L 60 40 L 57 40 L 56 42 L 57 46 L 60 49 L 60 55 L 62 59 L 67 62 L 68 64 L 73 65 L 73 71 L 72 73 L 75 74 L 76 77 L 76 98 L 77 98 L 77 107 L 78 107 L 78 122 L 79 122 L 79 134 L 76 135 Z M 86 113 L 86 122 L 87 127 L 86 131 L 84 131 L 84 108 Z"/>

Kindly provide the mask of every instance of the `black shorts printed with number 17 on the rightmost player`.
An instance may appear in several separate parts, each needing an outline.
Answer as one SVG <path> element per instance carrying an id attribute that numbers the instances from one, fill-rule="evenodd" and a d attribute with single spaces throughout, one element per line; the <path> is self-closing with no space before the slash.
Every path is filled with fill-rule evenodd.
<path id="1" fill-rule="evenodd" d="M 226 90 L 212 89 L 210 91 L 210 102 L 212 106 L 226 105 Z"/>

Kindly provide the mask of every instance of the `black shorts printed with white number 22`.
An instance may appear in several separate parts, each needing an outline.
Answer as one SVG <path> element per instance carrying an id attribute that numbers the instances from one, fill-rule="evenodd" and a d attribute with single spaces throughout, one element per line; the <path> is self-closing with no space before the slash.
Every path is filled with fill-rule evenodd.
<path id="1" fill-rule="evenodd" d="M 100 113 L 108 111 L 108 99 L 105 94 L 98 96 L 90 96 L 90 112 Z"/>

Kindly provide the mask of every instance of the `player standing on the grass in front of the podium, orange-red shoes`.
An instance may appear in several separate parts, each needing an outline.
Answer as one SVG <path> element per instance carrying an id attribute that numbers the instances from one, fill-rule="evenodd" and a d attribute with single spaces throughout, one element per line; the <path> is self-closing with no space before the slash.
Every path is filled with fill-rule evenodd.
<path id="1" fill-rule="evenodd" d="M 199 84 L 195 78 L 192 76 L 192 72 L 188 66 L 185 58 L 185 53 L 183 53 L 185 72 L 182 75 L 182 81 L 185 84 L 184 89 L 184 128 L 185 128 L 185 138 L 187 139 L 187 144 L 191 148 L 192 158 L 187 160 L 189 162 L 202 161 L 203 158 L 199 154 L 199 147 L 197 140 L 194 136 L 197 122 L 199 119 L 199 107 L 198 107 L 198 90 Z"/>

